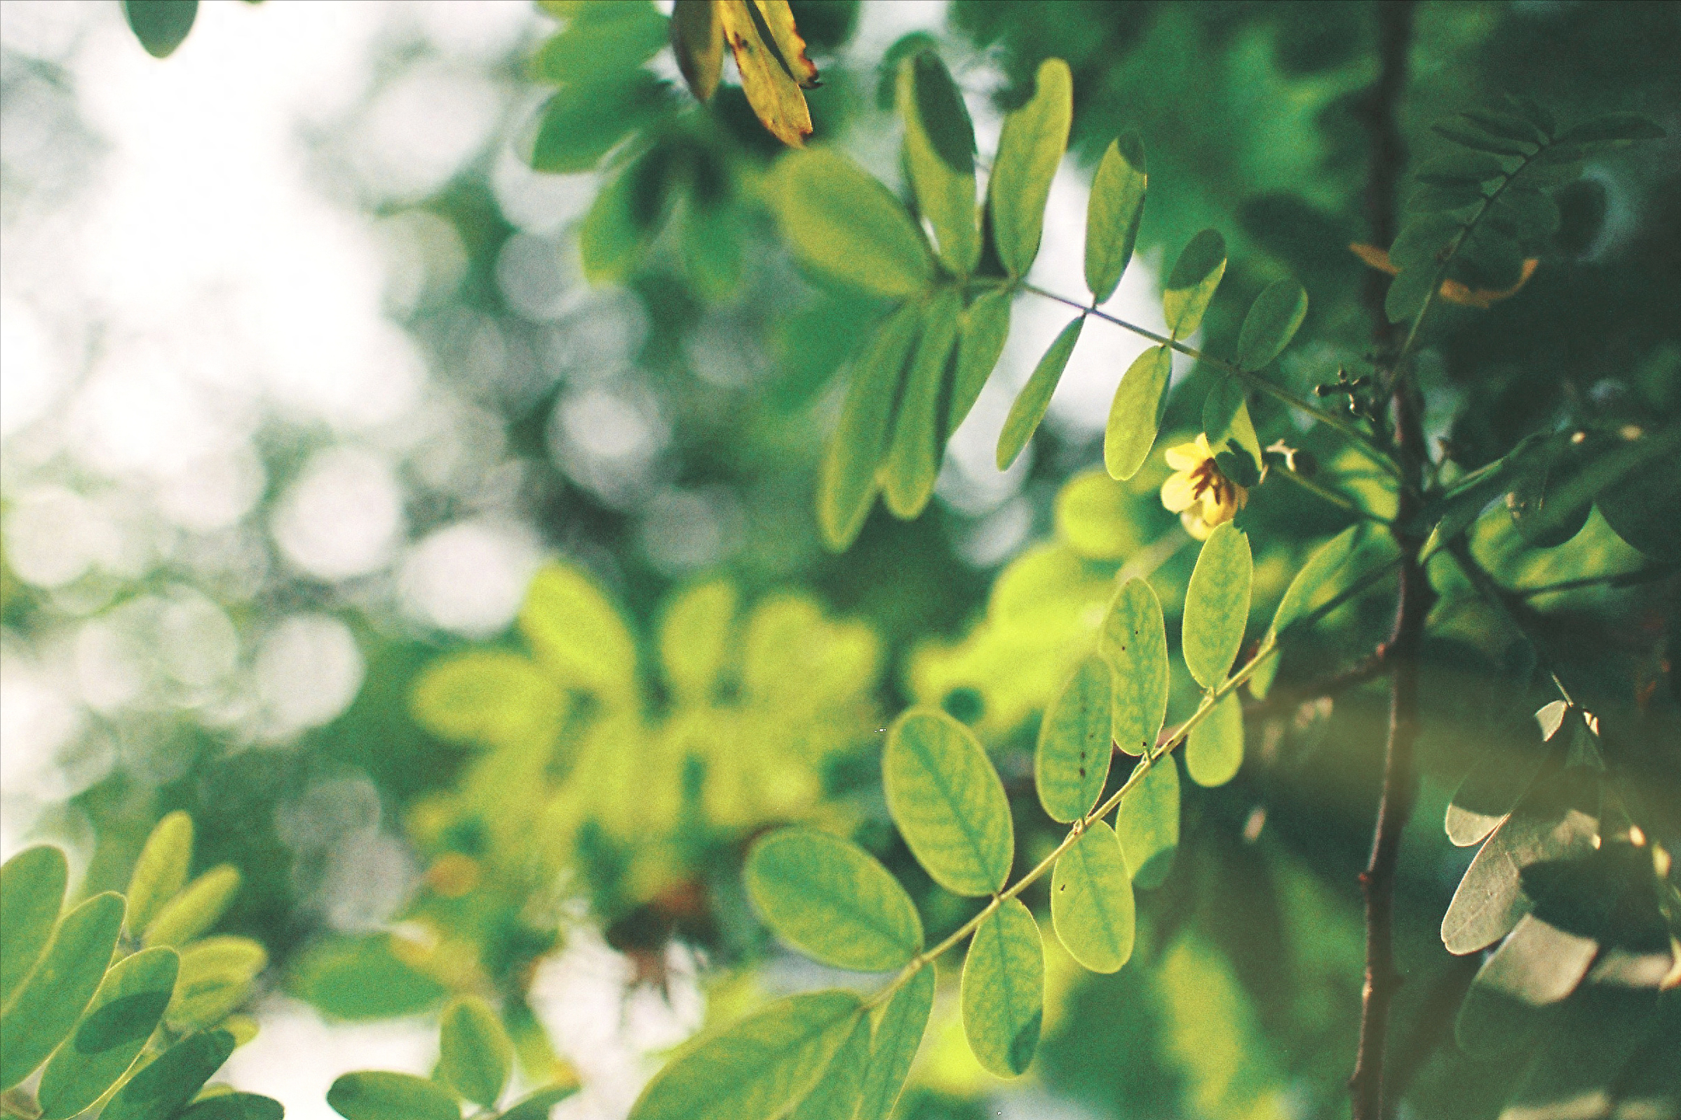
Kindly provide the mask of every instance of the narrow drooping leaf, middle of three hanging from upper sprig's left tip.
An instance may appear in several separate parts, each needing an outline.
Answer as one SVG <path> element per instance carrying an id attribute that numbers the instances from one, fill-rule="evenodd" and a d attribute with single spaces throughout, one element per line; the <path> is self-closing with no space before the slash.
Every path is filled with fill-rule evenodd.
<path id="1" fill-rule="evenodd" d="M 923 334 L 904 379 L 899 415 L 893 425 L 888 462 L 881 468 L 881 492 L 896 517 L 923 512 L 940 474 L 940 401 L 945 395 L 946 359 L 956 346 L 963 297 L 941 289 L 923 314 Z"/>

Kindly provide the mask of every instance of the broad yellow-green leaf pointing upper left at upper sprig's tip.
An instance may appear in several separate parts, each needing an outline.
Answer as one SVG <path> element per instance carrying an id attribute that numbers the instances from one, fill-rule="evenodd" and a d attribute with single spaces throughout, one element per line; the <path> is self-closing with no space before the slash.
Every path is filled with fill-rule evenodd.
<path id="1" fill-rule="evenodd" d="M 899 200 L 846 156 L 809 148 L 777 165 L 773 205 L 793 255 L 842 284 L 904 297 L 933 280 L 921 230 Z"/>

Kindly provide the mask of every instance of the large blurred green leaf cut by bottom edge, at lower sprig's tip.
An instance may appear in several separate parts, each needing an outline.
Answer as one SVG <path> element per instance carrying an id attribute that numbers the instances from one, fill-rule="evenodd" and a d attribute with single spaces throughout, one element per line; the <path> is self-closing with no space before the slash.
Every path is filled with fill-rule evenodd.
<path id="1" fill-rule="evenodd" d="M 684 1049 L 629 1120 L 772 1120 L 812 1091 L 861 1014 L 852 992 L 778 999 Z"/>

